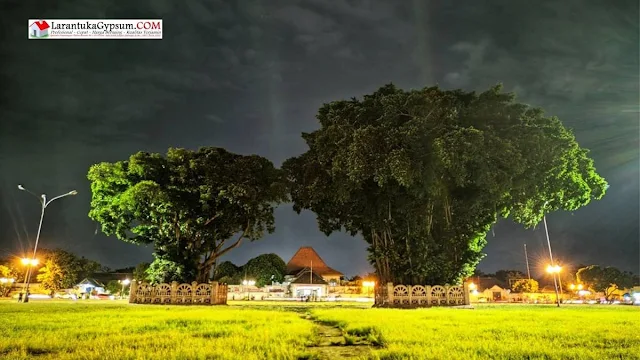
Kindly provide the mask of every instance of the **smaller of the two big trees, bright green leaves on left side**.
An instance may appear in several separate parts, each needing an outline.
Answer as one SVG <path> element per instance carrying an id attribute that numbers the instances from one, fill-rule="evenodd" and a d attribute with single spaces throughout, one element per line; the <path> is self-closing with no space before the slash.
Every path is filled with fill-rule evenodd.
<path id="1" fill-rule="evenodd" d="M 274 207 L 287 198 L 269 160 L 214 147 L 138 152 L 93 165 L 88 178 L 89 217 L 107 235 L 152 244 L 148 271 L 160 281 L 209 280 L 220 256 L 273 232 Z"/>

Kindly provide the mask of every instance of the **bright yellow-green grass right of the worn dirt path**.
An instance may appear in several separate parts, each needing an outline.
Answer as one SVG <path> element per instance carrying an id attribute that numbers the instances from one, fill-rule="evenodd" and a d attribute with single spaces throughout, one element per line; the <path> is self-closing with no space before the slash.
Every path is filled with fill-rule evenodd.
<path id="1" fill-rule="evenodd" d="M 475 309 L 315 309 L 378 359 L 640 359 L 640 308 L 480 305 Z"/>

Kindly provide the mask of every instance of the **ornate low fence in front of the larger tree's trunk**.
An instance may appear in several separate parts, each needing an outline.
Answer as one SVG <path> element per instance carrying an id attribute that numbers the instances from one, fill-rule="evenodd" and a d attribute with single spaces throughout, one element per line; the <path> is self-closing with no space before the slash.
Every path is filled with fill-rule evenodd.
<path id="1" fill-rule="evenodd" d="M 376 305 L 385 307 L 428 307 L 469 305 L 469 287 L 464 285 L 394 285 L 376 288 Z"/>

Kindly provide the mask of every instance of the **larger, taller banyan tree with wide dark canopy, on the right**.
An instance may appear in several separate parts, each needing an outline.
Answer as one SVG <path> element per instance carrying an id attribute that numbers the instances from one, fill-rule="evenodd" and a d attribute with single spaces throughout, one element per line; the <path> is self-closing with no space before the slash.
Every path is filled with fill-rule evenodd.
<path id="1" fill-rule="evenodd" d="M 327 235 L 360 234 L 381 282 L 454 284 L 500 217 L 526 227 L 600 199 L 607 183 L 556 117 L 483 93 L 387 85 L 334 101 L 283 165 L 294 209 Z"/>

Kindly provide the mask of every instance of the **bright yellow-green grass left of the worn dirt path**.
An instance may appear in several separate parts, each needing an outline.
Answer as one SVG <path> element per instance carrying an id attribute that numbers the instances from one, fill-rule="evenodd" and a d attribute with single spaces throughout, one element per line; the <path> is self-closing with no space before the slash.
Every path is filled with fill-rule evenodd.
<path id="1" fill-rule="evenodd" d="M 0 302 L 0 334 L 0 359 L 296 359 L 313 323 L 231 306 Z"/>

